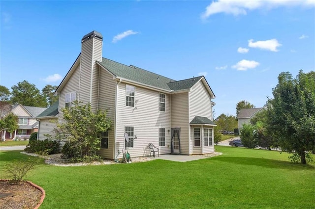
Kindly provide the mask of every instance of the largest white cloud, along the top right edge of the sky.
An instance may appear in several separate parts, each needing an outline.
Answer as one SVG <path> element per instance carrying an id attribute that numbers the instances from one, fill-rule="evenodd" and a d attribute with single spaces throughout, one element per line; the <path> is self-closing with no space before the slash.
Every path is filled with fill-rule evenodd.
<path id="1" fill-rule="evenodd" d="M 217 13 L 246 15 L 248 11 L 255 9 L 272 9 L 281 6 L 314 7 L 314 0 L 214 0 L 201 14 L 206 19 Z"/>

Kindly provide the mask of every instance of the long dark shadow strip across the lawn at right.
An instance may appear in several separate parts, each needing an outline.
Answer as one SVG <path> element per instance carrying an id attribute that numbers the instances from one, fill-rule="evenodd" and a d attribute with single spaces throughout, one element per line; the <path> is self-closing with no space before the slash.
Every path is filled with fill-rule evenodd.
<path id="1" fill-rule="evenodd" d="M 303 165 L 288 161 L 266 159 L 266 158 L 256 158 L 256 157 L 213 157 L 211 160 L 217 160 L 227 163 L 235 163 L 242 165 L 255 165 L 265 168 L 277 168 L 277 169 L 287 169 L 287 170 L 315 170 L 313 165 Z"/>

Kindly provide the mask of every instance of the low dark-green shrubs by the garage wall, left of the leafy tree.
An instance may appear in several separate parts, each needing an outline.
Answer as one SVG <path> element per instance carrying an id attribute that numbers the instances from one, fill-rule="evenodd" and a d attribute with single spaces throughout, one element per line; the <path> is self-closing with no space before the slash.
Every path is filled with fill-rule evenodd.
<path id="1" fill-rule="evenodd" d="M 30 141 L 25 148 L 25 152 L 36 153 L 38 155 L 53 155 L 58 153 L 59 143 L 54 140 Z"/>

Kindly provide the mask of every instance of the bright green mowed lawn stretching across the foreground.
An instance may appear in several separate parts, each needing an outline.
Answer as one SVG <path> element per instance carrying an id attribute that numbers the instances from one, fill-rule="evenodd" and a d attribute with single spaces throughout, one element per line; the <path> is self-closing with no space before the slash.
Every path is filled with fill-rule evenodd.
<path id="1" fill-rule="evenodd" d="M 190 162 L 58 167 L 40 164 L 28 180 L 46 191 L 40 209 L 314 208 L 315 164 L 286 153 L 216 146 L 223 155 Z M 2 166 L 29 156 L 0 152 Z"/>

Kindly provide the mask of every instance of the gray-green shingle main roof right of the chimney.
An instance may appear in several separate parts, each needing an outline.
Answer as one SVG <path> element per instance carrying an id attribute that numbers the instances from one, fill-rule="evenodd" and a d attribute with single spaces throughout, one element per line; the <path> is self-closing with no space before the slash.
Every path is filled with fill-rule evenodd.
<path id="1" fill-rule="evenodd" d="M 174 80 L 166 78 L 164 76 L 152 73 L 134 65 L 124 65 L 113 60 L 103 58 L 102 62 L 97 62 L 114 76 L 119 78 L 125 78 L 138 83 L 146 84 L 149 86 L 157 87 L 167 91 L 184 90 L 191 88 L 201 77 L 189 78 L 185 80 Z"/>

